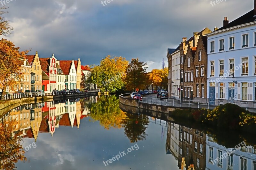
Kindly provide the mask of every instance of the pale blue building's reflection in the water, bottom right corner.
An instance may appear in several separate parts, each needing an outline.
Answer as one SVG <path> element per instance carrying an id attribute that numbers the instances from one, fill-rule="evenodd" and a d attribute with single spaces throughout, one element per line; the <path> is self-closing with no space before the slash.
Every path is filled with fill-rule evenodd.
<path id="1" fill-rule="evenodd" d="M 244 146 L 240 143 L 240 146 Z M 237 144 L 238 146 L 239 144 Z M 228 151 L 228 152 L 227 152 Z M 232 154 L 229 154 L 231 153 Z M 217 158 L 223 155 L 218 162 Z M 225 158 L 226 156 L 226 158 Z M 213 138 L 206 136 L 206 168 L 214 170 L 249 170 L 256 168 L 256 151 L 253 146 L 226 148 L 213 141 Z"/>

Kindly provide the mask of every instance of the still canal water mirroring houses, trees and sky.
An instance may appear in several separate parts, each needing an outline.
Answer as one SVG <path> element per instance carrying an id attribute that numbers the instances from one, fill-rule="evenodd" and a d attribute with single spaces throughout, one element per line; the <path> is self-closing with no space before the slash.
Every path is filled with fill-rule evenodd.
<path id="1" fill-rule="evenodd" d="M 25 104 L 0 120 L 1 169 L 256 170 L 244 137 L 235 149 L 204 129 L 124 113 L 115 95 Z"/>

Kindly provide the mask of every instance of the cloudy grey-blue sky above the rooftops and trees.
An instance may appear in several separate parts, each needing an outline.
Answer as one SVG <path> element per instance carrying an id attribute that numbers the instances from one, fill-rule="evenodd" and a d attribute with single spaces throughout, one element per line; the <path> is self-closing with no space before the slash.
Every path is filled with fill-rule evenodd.
<path id="1" fill-rule="evenodd" d="M 4 17 L 13 26 L 8 40 L 21 50 L 57 60 L 99 65 L 108 55 L 139 58 L 148 71 L 161 69 L 167 48 L 205 27 L 213 31 L 253 9 L 253 0 L 12 0 Z"/>

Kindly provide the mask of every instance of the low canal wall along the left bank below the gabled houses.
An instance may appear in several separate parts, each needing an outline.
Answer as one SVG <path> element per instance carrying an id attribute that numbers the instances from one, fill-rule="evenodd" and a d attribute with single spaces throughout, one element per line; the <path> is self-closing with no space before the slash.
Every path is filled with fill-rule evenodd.
<path id="1" fill-rule="evenodd" d="M 31 103 L 53 101 L 53 100 L 84 98 L 84 97 L 97 96 L 97 95 L 99 95 L 99 92 L 62 94 L 62 95 L 51 95 L 51 96 L 36 96 L 36 97 L 10 99 L 10 100 L 0 100 L 0 115 L 5 113 L 6 111 L 8 112 L 11 108 L 19 107 L 24 103 L 31 104 Z"/>

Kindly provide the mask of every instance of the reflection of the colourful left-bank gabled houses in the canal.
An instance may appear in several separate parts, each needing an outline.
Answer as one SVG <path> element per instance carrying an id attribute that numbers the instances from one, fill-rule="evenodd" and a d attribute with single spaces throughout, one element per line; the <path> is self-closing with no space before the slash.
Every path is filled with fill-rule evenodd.
<path id="1" fill-rule="evenodd" d="M 19 133 L 20 137 L 34 138 L 36 141 L 38 133 L 50 133 L 53 137 L 59 126 L 79 128 L 80 120 L 90 114 L 87 105 L 92 102 L 97 102 L 97 96 L 27 104 L 11 109 L 0 121 L 5 121 L 7 125 L 11 121 L 17 122 L 12 135 Z"/>

